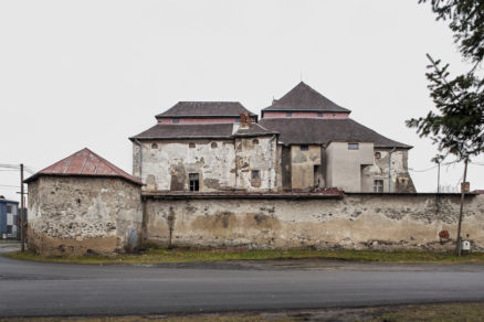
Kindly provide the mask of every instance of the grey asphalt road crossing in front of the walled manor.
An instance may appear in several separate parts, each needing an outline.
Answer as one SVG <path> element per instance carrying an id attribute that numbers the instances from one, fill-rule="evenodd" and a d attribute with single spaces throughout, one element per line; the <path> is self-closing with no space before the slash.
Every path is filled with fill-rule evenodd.
<path id="1" fill-rule="evenodd" d="M 162 314 L 484 300 L 482 265 L 82 266 L 0 257 L 0 315 Z"/>

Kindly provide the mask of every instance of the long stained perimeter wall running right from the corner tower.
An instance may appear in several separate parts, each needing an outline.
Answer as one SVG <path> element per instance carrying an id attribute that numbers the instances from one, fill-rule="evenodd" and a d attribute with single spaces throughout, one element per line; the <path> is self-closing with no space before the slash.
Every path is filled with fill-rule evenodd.
<path id="1" fill-rule="evenodd" d="M 146 198 L 145 239 L 215 248 L 453 249 L 459 195 L 348 194 L 341 200 Z M 484 195 L 466 196 L 462 236 L 484 250 Z M 469 235 L 469 237 L 466 237 Z"/>

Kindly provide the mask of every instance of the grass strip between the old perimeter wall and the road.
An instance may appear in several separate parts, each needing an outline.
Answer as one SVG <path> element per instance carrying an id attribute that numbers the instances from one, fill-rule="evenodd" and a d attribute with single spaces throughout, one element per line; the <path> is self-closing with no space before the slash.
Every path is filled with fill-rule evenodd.
<path id="1" fill-rule="evenodd" d="M 228 260 L 277 260 L 277 259 L 313 259 L 347 260 L 372 262 L 442 262 L 466 264 L 484 262 L 484 253 L 473 253 L 457 257 L 450 253 L 431 253 L 420 250 L 381 251 L 381 250 L 200 250 L 200 249 L 147 249 L 140 254 L 123 254 L 116 256 L 61 256 L 44 257 L 30 251 L 3 255 L 13 259 L 75 262 L 75 264 L 161 264 Z"/>

